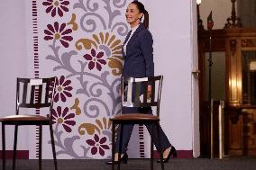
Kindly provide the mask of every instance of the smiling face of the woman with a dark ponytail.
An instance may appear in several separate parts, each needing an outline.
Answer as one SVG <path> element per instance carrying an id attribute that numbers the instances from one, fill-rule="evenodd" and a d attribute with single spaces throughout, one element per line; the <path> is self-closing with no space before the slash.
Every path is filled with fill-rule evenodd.
<path id="1" fill-rule="evenodd" d="M 140 13 L 136 4 L 129 4 L 126 9 L 126 21 L 130 23 L 131 27 L 138 25 L 141 22 L 143 13 Z"/>

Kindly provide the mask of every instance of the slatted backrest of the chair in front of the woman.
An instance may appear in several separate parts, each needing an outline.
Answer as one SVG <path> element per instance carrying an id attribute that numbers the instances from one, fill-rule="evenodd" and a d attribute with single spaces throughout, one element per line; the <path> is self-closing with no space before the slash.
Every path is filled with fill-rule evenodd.
<path id="1" fill-rule="evenodd" d="M 163 76 L 142 78 L 128 77 L 122 79 L 122 106 L 151 107 L 156 106 L 156 113 L 160 112 L 160 94 Z M 151 86 L 151 96 L 148 88 Z"/>

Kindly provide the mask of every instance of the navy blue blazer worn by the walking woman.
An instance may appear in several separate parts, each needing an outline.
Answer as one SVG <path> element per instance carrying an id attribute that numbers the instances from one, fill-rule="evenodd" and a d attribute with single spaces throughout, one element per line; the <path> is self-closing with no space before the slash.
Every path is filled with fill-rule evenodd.
<path id="1" fill-rule="evenodd" d="M 127 41 L 128 35 L 123 44 Z M 126 46 L 123 54 L 123 76 L 144 77 L 154 76 L 153 40 L 151 32 L 140 23 Z"/>

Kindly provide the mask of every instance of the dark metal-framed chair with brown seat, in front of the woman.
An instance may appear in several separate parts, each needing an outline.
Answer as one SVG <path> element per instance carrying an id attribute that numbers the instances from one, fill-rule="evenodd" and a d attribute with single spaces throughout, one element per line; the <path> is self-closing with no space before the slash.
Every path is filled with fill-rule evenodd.
<path id="1" fill-rule="evenodd" d="M 157 131 L 160 129 L 160 94 L 163 76 L 152 76 L 142 78 L 125 78 L 122 79 L 122 107 L 155 107 L 156 114 L 143 114 L 143 113 L 129 113 L 115 115 L 114 118 L 110 118 L 113 121 L 112 127 L 112 162 L 114 163 L 114 143 L 115 143 L 115 126 L 120 124 L 120 142 L 119 150 L 121 150 L 122 138 L 123 138 L 123 124 L 151 124 L 151 132 L 155 127 Z M 151 85 L 151 96 L 149 98 L 148 86 Z M 154 109 L 154 108 L 152 108 Z M 155 126 L 152 126 L 155 125 Z M 160 143 L 160 138 L 159 143 Z M 153 170 L 153 135 L 151 135 L 151 170 Z M 160 143 L 161 144 L 161 143 Z M 160 145 L 161 146 L 161 145 Z M 160 159 L 163 158 L 163 149 L 160 150 Z M 120 160 L 121 154 L 118 156 Z M 120 169 L 120 161 L 118 164 L 118 170 Z M 114 164 L 112 164 L 114 170 Z M 164 164 L 161 161 L 161 169 L 164 169 Z"/>

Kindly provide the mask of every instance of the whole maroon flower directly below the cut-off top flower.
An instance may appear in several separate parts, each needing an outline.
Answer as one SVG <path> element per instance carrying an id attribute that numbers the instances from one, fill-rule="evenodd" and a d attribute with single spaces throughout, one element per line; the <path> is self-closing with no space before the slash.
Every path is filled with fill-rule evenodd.
<path id="1" fill-rule="evenodd" d="M 60 43 L 65 47 L 69 47 L 69 42 L 73 40 L 73 37 L 67 35 L 72 32 L 71 29 L 66 29 L 66 23 L 61 23 L 59 26 L 59 22 L 54 22 L 53 25 L 48 24 L 47 28 L 48 30 L 44 30 L 44 33 L 46 34 L 44 36 L 44 40 L 59 40 Z"/>

